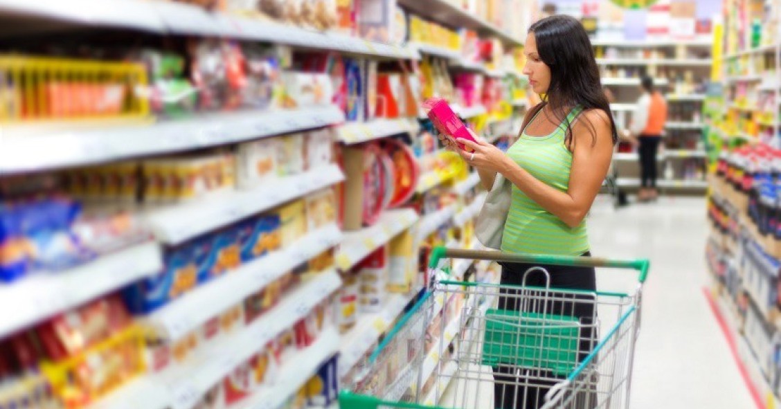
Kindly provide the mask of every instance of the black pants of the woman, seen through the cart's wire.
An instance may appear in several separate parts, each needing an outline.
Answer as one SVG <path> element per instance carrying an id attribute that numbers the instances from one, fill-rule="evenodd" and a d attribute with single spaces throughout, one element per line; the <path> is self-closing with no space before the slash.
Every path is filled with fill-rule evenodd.
<path id="1" fill-rule="evenodd" d="M 590 253 L 583 254 L 590 256 Z M 594 268 L 572 267 L 559 265 L 528 265 L 522 263 L 500 263 L 501 283 L 503 285 L 521 286 L 523 275 L 533 267 L 542 267 L 551 277 L 550 286 L 562 290 L 597 290 L 597 279 Z M 526 278 L 526 286 L 545 287 L 544 272 L 533 271 Z M 499 297 L 500 310 L 545 312 L 550 315 L 567 315 L 577 317 L 582 325 L 589 325 L 580 330 L 578 345 L 578 361 L 583 361 L 597 343 L 597 334 L 590 325 L 594 325 L 593 296 L 583 294 L 572 296 L 572 301 L 519 302 L 517 290 L 503 286 Z M 547 305 L 544 305 L 547 304 Z M 565 376 L 555 375 L 551 371 L 519 368 L 517 366 L 496 366 L 494 370 L 494 408 L 496 409 L 537 409 L 544 404 L 545 393 Z M 520 375 L 517 372 L 520 371 Z M 540 378 L 550 379 L 540 380 Z M 526 386 L 523 386 L 526 384 Z M 573 407 L 588 407 L 587 401 L 579 399 L 581 404 Z M 593 406 L 593 405 L 592 405 Z"/>

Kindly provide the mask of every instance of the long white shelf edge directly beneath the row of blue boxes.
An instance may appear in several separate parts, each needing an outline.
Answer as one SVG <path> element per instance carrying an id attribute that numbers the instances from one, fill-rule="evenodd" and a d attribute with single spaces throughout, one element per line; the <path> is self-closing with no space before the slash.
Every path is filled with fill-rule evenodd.
<path id="1" fill-rule="evenodd" d="M 336 246 L 341 238 L 341 230 L 336 225 L 308 233 L 289 247 L 266 254 L 209 283 L 201 284 L 154 311 L 147 321 L 169 340 L 178 340 L 291 272 L 302 262 Z"/>

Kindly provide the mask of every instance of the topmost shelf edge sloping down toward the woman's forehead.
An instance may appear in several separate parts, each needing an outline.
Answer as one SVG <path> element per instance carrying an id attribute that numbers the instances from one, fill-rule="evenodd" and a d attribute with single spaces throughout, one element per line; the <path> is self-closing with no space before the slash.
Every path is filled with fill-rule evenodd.
<path id="1" fill-rule="evenodd" d="M 410 12 L 425 17 L 426 19 L 436 21 L 448 27 L 460 27 L 469 30 L 476 30 L 480 34 L 493 35 L 499 37 L 505 44 L 513 46 L 523 45 L 523 39 L 515 37 L 486 20 L 475 16 L 455 5 L 448 0 L 428 0 L 419 2 L 418 0 L 399 0 L 398 4 L 408 9 Z"/>

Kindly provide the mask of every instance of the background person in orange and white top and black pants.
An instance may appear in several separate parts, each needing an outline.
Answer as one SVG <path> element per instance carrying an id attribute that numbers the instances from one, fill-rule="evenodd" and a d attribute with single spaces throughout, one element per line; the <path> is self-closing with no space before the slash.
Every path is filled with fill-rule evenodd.
<path id="1" fill-rule="evenodd" d="M 637 101 L 626 137 L 640 145 L 640 193 L 637 200 L 651 201 L 658 197 L 656 156 L 667 122 L 667 101 L 654 88 L 654 79 L 650 76 L 640 80 L 640 91 L 643 94 Z"/>

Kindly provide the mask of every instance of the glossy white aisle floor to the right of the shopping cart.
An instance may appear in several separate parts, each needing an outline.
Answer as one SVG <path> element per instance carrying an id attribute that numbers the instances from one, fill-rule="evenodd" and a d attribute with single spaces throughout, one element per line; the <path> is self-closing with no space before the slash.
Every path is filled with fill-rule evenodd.
<path id="1" fill-rule="evenodd" d="M 704 208 L 702 198 L 664 198 L 619 211 L 600 202 L 592 212 L 595 255 L 651 258 L 632 409 L 755 407 L 701 290 L 708 274 Z M 627 283 L 618 272 L 597 277 L 601 289 Z"/>

